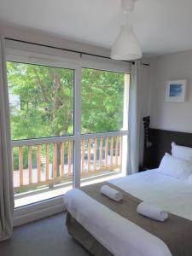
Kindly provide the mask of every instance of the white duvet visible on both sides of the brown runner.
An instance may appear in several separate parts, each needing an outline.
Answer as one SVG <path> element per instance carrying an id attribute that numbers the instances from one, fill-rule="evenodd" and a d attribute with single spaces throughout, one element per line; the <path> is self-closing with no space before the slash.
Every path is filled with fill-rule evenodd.
<path id="1" fill-rule="evenodd" d="M 156 207 L 192 220 L 192 185 L 151 170 L 110 181 Z M 171 256 L 166 244 L 79 189 L 64 197 L 67 211 L 104 247 L 119 256 Z M 136 212 L 137 214 L 137 212 Z"/>

